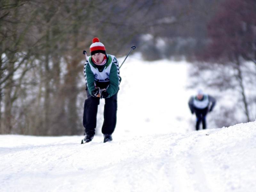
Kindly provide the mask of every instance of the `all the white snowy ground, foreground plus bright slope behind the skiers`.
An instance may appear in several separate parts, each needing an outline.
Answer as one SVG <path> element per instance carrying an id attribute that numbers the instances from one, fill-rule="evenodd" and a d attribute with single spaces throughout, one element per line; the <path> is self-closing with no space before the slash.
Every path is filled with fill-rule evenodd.
<path id="1" fill-rule="evenodd" d="M 84 145 L 82 135 L 0 135 L 0 191 L 256 191 L 256 121 L 194 131 L 187 63 L 139 59 L 121 68 L 112 142 L 101 121 Z"/>

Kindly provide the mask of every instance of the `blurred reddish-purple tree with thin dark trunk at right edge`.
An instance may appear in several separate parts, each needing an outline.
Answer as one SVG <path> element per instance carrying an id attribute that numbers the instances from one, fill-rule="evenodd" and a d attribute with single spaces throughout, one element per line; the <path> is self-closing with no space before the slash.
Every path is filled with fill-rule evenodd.
<path id="1" fill-rule="evenodd" d="M 209 22 L 208 34 L 210 41 L 208 49 L 202 57 L 204 61 L 224 64 L 233 71 L 247 122 L 251 120 L 249 106 L 254 105 L 253 103 L 249 105 L 248 100 L 255 96 L 248 95 L 246 92 L 246 86 L 248 85 L 245 85 L 245 77 L 249 77 L 253 81 L 254 76 L 249 73 L 245 74 L 242 68 L 246 67 L 244 59 L 253 61 L 255 54 L 256 31 L 253 30 L 255 19 L 251 17 L 255 14 L 255 11 L 253 11 L 255 6 L 255 1 L 225 1 L 216 16 Z M 252 7 L 252 9 L 249 7 Z M 227 79 L 226 77 L 225 74 L 219 76 L 223 82 Z M 221 86 L 228 87 L 230 83 L 233 84 L 233 82 L 229 82 Z"/>

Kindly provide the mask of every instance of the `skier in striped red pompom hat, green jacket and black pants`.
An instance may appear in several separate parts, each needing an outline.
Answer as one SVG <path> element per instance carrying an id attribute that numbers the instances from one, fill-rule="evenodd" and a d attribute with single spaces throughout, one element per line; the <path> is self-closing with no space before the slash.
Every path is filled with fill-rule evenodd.
<path id="1" fill-rule="evenodd" d="M 90 46 L 91 56 L 84 64 L 87 99 L 84 102 L 84 139 L 81 144 L 92 141 L 97 121 L 100 99 L 105 99 L 104 121 L 101 132 L 103 142 L 112 141 L 116 127 L 117 92 L 121 82 L 119 64 L 114 55 L 106 54 L 105 46 L 95 37 Z"/>

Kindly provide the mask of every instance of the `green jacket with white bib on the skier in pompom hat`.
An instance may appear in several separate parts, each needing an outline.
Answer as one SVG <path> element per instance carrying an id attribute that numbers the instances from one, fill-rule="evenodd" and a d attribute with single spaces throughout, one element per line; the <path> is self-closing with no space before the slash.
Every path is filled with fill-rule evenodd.
<path id="1" fill-rule="evenodd" d="M 94 82 L 100 88 L 107 88 L 108 97 L 113 96 L 119 90 L 121 82 L 119 64 L 114 55 L 108 55 L 107 62 L 103 66 L 96 65 L 92 56 L 84 63 L 85 83 L 90 94 L 95 89 Z"/>

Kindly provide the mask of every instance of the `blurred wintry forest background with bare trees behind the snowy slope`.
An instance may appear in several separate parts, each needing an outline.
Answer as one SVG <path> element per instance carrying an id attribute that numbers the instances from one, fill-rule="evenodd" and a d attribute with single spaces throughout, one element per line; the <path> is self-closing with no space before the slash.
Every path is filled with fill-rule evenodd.
<path id="1" fill-rule="evenodd" d="M 134 44 L 145 60 L 190 61 L 190 87 L 236 95 L 220 126 L 254 121 L 255 10 L 255 0 L 0 0 L 0 133 L 83 133 L 82 51 L 95 36 L 117 57 Z"/>

